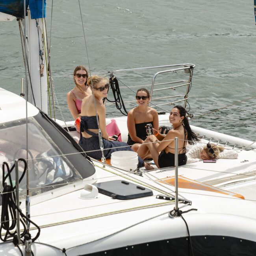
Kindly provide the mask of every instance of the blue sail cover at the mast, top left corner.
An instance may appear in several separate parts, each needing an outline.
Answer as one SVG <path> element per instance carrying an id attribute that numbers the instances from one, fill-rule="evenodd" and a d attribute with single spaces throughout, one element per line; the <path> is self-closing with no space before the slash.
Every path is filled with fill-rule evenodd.
<path id="1" fill-rule="evenodd" d="M 45 18 L 46 0 L 25 0 L 32 19 Z M 24 0 L 0 0 L 0 12 L 24 18 Z"/>

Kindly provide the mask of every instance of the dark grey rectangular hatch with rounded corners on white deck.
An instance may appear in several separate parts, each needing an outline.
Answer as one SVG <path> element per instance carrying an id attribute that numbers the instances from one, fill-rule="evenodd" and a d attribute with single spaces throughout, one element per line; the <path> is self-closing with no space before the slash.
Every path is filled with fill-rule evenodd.
<path id="1" fill-rule="evenodd" d="M 151 189 L 124 180 L 112 180 L 94 185 L 98 188 L 99 193 L 121 200 L 153 195 Z"/>

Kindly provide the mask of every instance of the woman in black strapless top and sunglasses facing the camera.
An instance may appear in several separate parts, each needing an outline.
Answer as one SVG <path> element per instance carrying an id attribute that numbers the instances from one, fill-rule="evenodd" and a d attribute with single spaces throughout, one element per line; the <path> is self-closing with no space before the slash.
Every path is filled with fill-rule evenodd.
<path id="1" fill-rule="evenodd" d="M 147 89 L 141 88 L 136 93 L 138 106 L 129 111 L 127 117 L 128 145 L 143 143 L 147 138 L 146 125 L 158 130 L 158 113 L 156 109 L 148 107 L 150 95 Z M 139 145 L 137 146 L 137 148 Z M 133 147 L 135 148 L 135 147 Z M 137 149 L 135 149 L 136 151 Z"/>

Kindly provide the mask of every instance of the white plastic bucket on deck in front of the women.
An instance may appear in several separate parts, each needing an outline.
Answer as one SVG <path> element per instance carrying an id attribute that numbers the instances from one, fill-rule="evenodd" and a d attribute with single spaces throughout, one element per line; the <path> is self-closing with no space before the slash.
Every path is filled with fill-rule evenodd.
<path id="1" fill-rule="evenodd" d="M 134 151 L 116 151 L 111 154 L 111 165 L 126 171 L 137 169 L 138 154 Z"/>

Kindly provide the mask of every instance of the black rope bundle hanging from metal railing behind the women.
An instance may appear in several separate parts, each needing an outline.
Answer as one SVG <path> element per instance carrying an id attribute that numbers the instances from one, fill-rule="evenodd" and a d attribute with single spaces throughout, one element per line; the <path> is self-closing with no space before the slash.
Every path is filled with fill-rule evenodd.
<path id="1" fill-rule="evenodd" d="M 119 83 L 118 83 L 118 80 L 115 76 L 111 75 L 111 77 L 109 78 L 109 85 L 112 89 L 113 96 L 114 96 L 115 100 L 111 101 L 108 98 L 106 98 L 106 100 L 108 100 L 108 102 L 115 102 L 116 108 L 123 115 L 128 115 L 128 112 L 126 111 L 126 108 L 124 106 L 124 101 L 122 100 L 122 95 L 121 95 L 121 92 L 120 92 Z M 122 108 L 123 108 L 123 110 L 122 110 Z"/>

